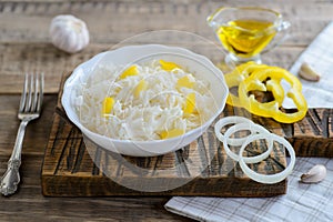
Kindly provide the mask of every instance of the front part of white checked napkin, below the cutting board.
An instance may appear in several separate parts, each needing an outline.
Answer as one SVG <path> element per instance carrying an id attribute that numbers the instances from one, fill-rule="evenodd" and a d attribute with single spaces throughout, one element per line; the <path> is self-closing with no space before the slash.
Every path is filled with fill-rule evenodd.
<path id="1" fill-rule="evenodd" d="M 327 176 L 316 184 L 300 183 L 314 164 Z M 172 198 L 165 209 L 198 221 L 333 221 L 333 159 L 297 158 L 287 193 L 275 198 Z"/>

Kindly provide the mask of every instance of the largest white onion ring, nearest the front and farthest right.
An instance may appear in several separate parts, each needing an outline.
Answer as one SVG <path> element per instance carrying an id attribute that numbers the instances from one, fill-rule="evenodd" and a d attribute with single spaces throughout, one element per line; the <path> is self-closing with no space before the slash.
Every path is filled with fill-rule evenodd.
<path id="1" fill-rule="evenodd" d="M 272 183 L 278 183 L 280 181 L 283 181 L 292 172 L 292 170 L 295 165 L 296 158 L 295 158 L 295 151 L 294 151 L 293 147 L 284 138 L 281 138 L 279 135 L 271 133 L 269 137 L 271 138 L 272 141 L 276 141 L 286 148 L 286 150 L 289 151 L 291 161 L 290 161 L 289 165 L 282 172 L 279 172 L 275 174 L 269 174 L 269 175 L 260 174 L 260 173 L 251 170 L 246 165 L 245 158 L 243 158 L 243 152 L 244 152 L 246 145 L 250 144 L 254 140 L 258 140 L 259 135 L 260 134 L 249 137 L 246 142 L 244 142 L 242 144 L 241 150 L 240 150 L 240 155 L 239 155 L 239 163 L 240 163 L 241 169 L 250 179 L 252 179 L 256 182 L 260 182 L 260 183 L 272 184 Z"/>

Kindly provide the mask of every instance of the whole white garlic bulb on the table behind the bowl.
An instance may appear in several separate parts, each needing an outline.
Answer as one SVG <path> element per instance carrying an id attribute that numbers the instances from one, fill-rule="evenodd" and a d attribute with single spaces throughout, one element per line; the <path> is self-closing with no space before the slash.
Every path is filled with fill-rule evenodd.
<path id="1" fill-rule="evenodd" d="M 69 53 L 75 53 L 89 43 L 89 31 L 84 21 L 71 14 L 60 14 L 52 19 L 50 37 L 54 47 Z"/>

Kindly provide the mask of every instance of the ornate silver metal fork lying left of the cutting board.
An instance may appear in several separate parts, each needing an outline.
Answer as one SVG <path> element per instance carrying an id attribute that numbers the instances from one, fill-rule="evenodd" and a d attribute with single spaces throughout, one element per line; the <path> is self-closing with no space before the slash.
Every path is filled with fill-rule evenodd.
<path id="1" fill-rule="evenodd" d="M 40 117 L 43 100 L 43 74 L 26 74 L 23 91 L 20 100 L 18 118 L 21 120 L 14 148 L 8 161 L 8 169 L 1 178 L 0 192 L 3 195 L 13 194 L 20 182 L 22 142 L 27 124 Z"/>

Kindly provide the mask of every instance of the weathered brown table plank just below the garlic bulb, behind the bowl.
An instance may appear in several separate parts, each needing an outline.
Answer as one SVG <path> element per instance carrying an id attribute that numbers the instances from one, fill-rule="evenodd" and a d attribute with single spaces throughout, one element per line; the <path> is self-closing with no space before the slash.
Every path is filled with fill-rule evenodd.
<path id="1" fill-rule="evenodd" d="M 90 44 L 84 51 L 69 56 L 54 49 L 50 43 L 0 44 L 0 50 L 8 54 L 2 59 L 0 58 L 0 77 L 2 80 L 0 82 L 0 93 L 19 93 L 23 73 L 28 71 L 44 72 L 47 93 L 57 93 L 63 73 L 73 70 L 78 64 L 108 49 L 108 44 Z M 295 60 L 301 51 L 302 49 L 299 48 L 279 48 L 270 52 L 265 63 L 287 67 L 290 61 Z M 281 52 L 283 52 L 283 56 Z M 219 60 L 222 57 L 223 53 L 212 54 L 211 59 L 216 58 L 215 60 Z"/>

